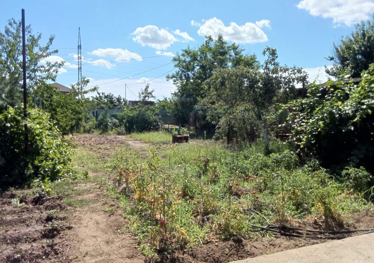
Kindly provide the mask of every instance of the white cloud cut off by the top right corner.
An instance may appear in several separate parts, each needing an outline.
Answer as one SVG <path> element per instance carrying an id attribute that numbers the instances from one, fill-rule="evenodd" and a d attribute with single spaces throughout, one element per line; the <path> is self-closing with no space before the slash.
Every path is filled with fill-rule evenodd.
<path id="1" fill-rule="evenodd" d="M 313 16 L 332 18 L 335 25 L 349 26 L 370 18 L 374 12 L 374 0 L 303 0 L 297 7 Z"/>

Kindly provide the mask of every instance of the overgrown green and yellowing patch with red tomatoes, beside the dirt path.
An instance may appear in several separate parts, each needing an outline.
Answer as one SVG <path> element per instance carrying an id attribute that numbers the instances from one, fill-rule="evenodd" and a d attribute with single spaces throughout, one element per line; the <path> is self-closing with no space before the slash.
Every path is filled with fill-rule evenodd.
<path id="1" fill-rule="evenodd" d="M 155 142 L 163 136 L 159 134 L 132 135 Z M 191 247 L 211 236 L 251 236 L 249 224 L 278 224 L 316 214 L 344 221 L 348 214 L 372 208 L 358 195 L 345 195 L 345 184 L 333 180 L 316 161 L 299 165 L 291 144 L 273 140 L 270 156 L 264 155 L 261 140 L 230 147 L 205 141 L 148 149 L 148 158 L 131 151 L 116 158 L 116 185 L 128 176 L 127 193 L 108 183 L 145 254 L 159 242 L 168 248 Z M 163 214 L 166 233 L 159 224 Z"/>

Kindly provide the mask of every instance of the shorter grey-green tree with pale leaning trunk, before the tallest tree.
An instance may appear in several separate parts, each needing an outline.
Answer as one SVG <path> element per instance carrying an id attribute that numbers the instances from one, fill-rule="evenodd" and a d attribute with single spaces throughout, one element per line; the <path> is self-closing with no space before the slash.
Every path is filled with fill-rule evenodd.
<path id="1" fill-rule="evenodd" d="M 281 66 L 276 49 L 266 48 L 263 55 L 265 62 L 260 67 L 217 69 L 206 82 L 207 95 L 202 104 L 209 119 L 219 128 L 227 127 L 228 141 L 230 127 L 248 130 L 250 123 L 257 122 L 269 153 L 270 140 L 264 118 L 274 105 L 295 97 L 295 85 L 304 79 L 305 73 L 301 68 Z"/>

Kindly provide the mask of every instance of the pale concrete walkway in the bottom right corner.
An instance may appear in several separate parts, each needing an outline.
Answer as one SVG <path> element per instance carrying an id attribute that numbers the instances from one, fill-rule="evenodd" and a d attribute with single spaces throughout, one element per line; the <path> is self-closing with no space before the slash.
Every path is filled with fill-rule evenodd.
<path id="1" fill-rule="evenodd" d="M 374 262 L 374 233 L 282 251 L 232 263 Z"/>

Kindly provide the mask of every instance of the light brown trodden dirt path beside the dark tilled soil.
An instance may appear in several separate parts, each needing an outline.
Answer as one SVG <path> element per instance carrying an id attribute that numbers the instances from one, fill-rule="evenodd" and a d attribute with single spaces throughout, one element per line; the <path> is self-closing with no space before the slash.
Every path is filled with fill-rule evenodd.
<path id="1" fill-rule="evenodd" d="M 99 184 L 90 187 L 96 191 L 76 197 L 88 205 L 71 217 L 70 258 L 73 262 L 144 262 L 134 238 L 122 231 L 127 222 L 116 201 Z"/>

